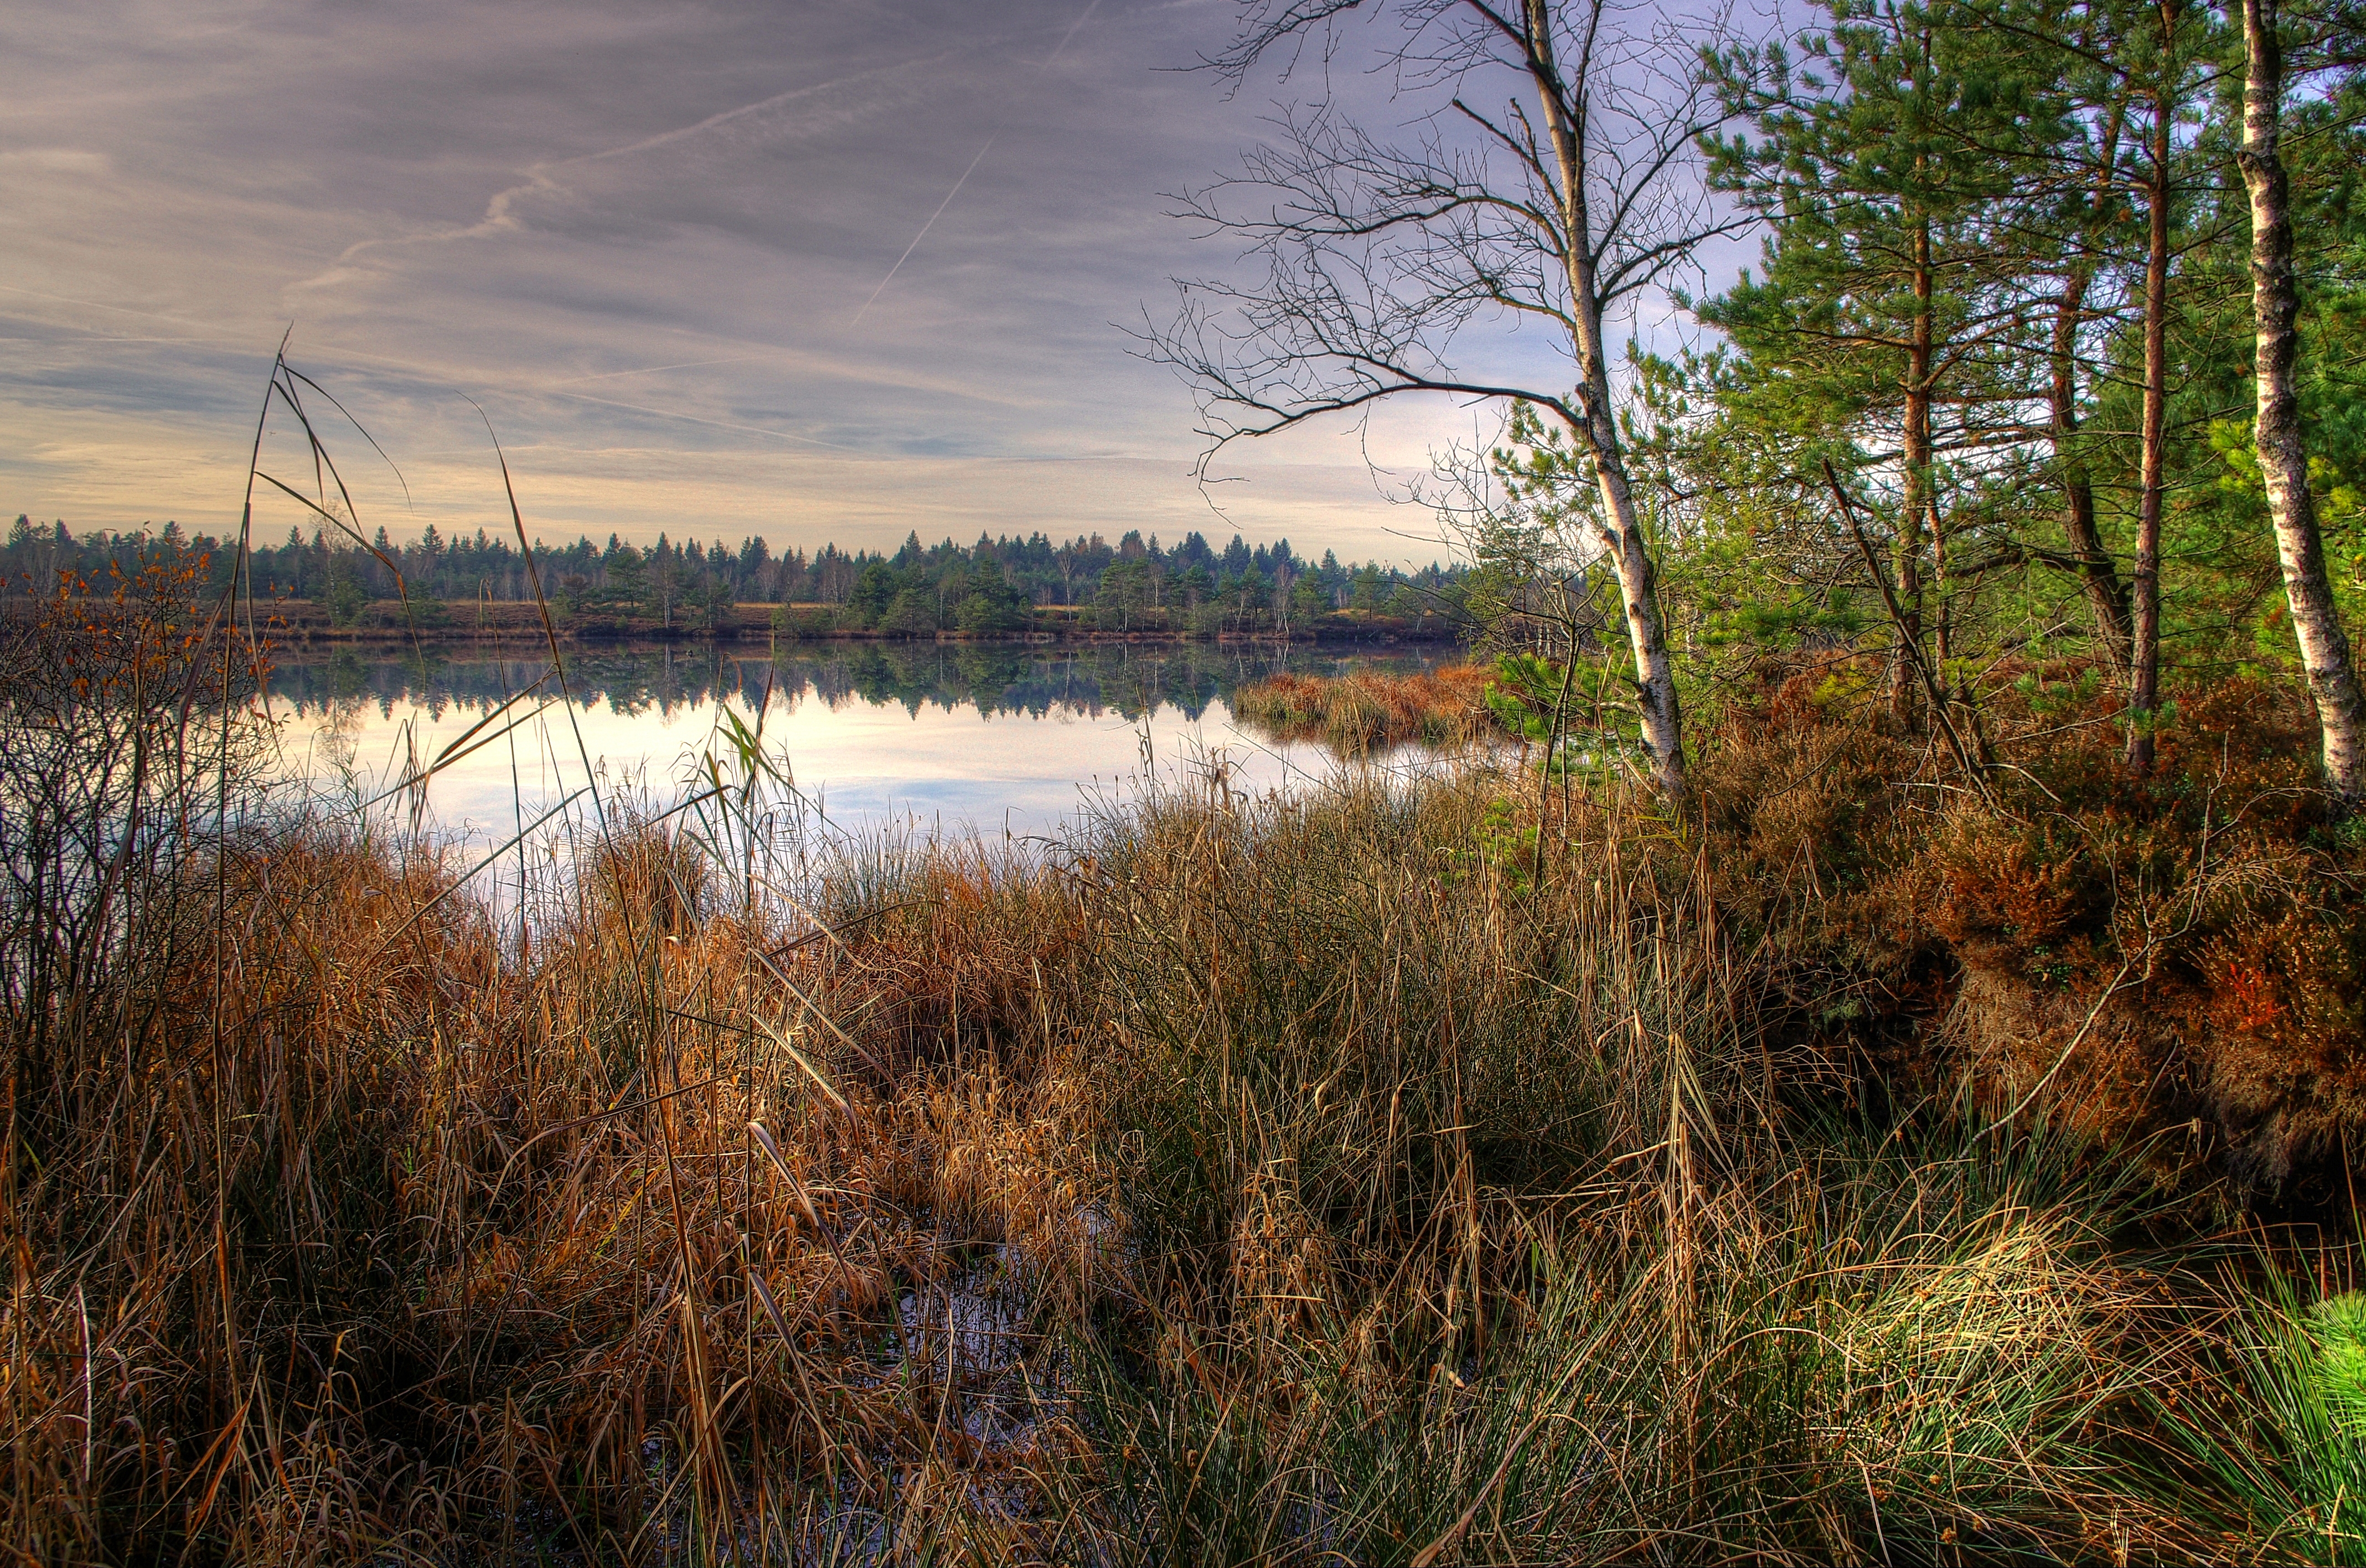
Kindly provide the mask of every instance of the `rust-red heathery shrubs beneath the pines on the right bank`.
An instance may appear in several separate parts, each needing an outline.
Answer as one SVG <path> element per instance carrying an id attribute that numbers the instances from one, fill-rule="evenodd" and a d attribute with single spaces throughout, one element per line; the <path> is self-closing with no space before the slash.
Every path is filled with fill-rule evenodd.
<path id="1" fill-rule="evenodd" d="M 2134 778 L 2113 695 L 2032 667 L 1978 714 L 1983 795 L 1874 683 L 1770 676 L 1701 766 L 1720 906 L 1786 1029 L 2163 1171 L 2328 1171 L 2366 1119 L 2366 832 L 2307 698 L 2186 686 Z"/>

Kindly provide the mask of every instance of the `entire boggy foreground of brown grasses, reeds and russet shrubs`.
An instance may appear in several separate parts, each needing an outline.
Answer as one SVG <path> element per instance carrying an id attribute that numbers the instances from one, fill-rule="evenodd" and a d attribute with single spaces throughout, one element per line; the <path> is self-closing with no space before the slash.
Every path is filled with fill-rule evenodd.
<path id="1" fill-rule="evenodd" d="M 523 922 L 263 802 L 19 899 L 0 1540 L 2366 1559 L 2290 712 L 2136 788 L 2035 681 L 1983 802 L 1855 695 L 1737 702 L 1692 825 L 1472 764 L 800 849 L 743 752 Z"/>

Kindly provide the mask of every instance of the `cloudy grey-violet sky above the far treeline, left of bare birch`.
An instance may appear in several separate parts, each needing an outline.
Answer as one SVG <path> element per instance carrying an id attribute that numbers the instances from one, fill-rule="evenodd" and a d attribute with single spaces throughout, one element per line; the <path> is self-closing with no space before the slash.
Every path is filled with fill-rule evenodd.
<path id="1" fill-rule="evenodd" d="M 386 449 L 329 435 L 362 525 L 397 539 L 506 523 L 490 421 L 554 542 L 1197 527 L 1436 558 L 1403 482 L 1491 414 L 1299 430 L 1200 485 L 1190 393 L 1124 331 L 1171 312 L 1171 277 L 1233 265 L 1166 196 L 1315 88 L 1228 99 L 1183 69 L 1233 21 L 1228 0 L 0 7 L 0 516 L 234 527 L 291 333 Z M 265 464 L 310 473 L 289 430 Z M 258 508 L 265 537 L 293 520 Z"/>

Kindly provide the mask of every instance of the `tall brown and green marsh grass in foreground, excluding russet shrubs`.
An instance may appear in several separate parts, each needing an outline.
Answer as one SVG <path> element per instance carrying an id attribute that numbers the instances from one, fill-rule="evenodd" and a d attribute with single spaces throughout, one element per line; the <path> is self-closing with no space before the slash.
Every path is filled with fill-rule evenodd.
<path id="1" fill-rule="evenodd" d="M 1500 783 L 752 901 L 615 814 L 523 932 L 319 821 L 192 856 L 149 1043 L 14 1102 L 7 1542 L 2210 1554 L 2151 1412 L 2269 1341 L 2110 1156 L 1848 1112 L 1649 821 L 1533 892 Z"/>

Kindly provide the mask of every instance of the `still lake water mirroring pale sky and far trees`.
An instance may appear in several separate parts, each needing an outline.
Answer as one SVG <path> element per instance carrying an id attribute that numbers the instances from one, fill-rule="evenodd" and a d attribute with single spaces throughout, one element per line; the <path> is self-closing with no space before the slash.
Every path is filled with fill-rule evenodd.
<path id="1" fill-rule="evenodd" d="M 461 840 L 532 825 L 587 783 L 584 757 L 603 795 L 677 799 L 710 750 L 731 754 L 726 712 L 835 828 L 1024 837 L 1211 764 L 1249 792 L 1330 776 L 1323 747 L 1235 724 L 1230 693 L 1275 669 L 1431 662 L 1202 646 L 835 643 L 778 657 L 653 646 L 565 650 L 561 688 L 523 648 L 338 650 L 284 660 L 272 698 L 291 773 L 367 799 L 433 766 L 421 823 Z"/>

